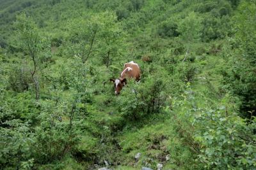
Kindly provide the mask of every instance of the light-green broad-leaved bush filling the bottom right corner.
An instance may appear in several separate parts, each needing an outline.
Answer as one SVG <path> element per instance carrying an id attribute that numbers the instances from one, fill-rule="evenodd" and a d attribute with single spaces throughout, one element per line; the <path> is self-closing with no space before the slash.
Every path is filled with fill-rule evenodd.
<path id="1" fill-rule="evenodd" d="M 209 169 L 253 169 L 256 166 L 255 119 L 246 120 L 226 115 L 225 110 L 200 111 L 195 139 L 200 143 L 199 160 Z"/>

